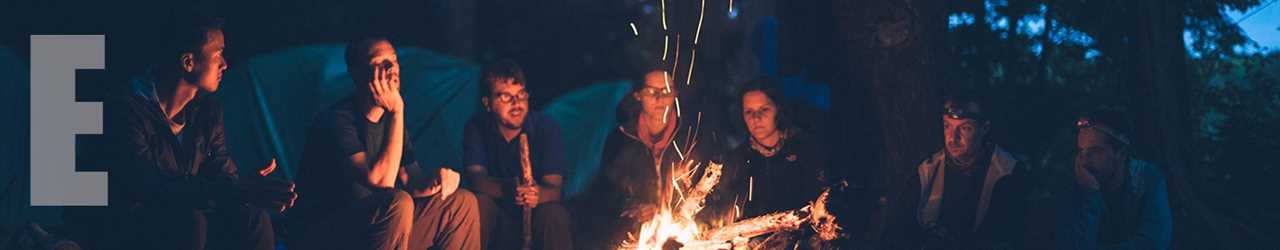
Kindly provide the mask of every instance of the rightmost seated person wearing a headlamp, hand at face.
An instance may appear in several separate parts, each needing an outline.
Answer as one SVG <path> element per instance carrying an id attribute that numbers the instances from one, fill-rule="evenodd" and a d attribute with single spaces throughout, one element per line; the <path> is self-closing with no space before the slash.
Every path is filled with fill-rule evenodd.
<path id="1" fill-rule="evenodd" d="M 1160 169 L 1134 158 L 1128 123 L 1115 112 L 1075 121 L 1071 217 L 1083 249 L 1169 249 L 1172 219 Z"/>

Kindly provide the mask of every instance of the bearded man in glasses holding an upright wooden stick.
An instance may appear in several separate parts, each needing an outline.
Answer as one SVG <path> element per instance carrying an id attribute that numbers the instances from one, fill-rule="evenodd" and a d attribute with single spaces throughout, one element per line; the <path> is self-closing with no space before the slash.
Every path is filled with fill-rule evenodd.
<path id="1" fill-rule="evenodd" d="M 485 249 L 520 249 L 521 208 L 532 208 L 532 249 L 573 249 L 568 210 L 559 204 L 564 145 L 559 124 L 529 110 L 525 72 L 498 60 L 480 74 L 480 104 L 462 129 L 462 164 L 480 203 Z M 534 186 L 518 186 L 520 135 L 529 138 Z"/>

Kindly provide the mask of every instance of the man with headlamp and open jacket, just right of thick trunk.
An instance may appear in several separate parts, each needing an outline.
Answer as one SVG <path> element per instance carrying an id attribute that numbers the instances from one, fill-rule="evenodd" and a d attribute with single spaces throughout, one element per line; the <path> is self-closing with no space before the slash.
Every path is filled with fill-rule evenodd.
<path id="1" fill-rule="evenodd" d="M 945 147 L 906 181 L 914 210 L 901 244 L 923 249 L 1021 247 L 1030 186 L 1027 162 L 993 144 L 988 106 L 977 96 L 943 103 Z M 914 190 L 915 192 L 911 192 Z"/>

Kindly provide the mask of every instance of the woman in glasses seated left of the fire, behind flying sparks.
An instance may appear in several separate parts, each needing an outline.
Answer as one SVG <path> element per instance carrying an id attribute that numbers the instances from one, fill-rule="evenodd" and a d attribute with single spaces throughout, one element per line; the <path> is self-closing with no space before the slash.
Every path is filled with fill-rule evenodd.
<path id="1" fill-rule="evenodd" d="M 659 192 L 673 190 L 673 164 L 691 159 L 705 165 L 710 160 L 699 151 L 713 141 L 696 138 L 699 132 L 689 124 L 695 122 L 690 113 L 676 114 L 682 83 L 673 78 L 663 67 L 649 68 L 632 82 L 631 95 L 618 105 L 618 127 L 605 138 L 600 169 L 590 188 L 572 205 L 580 221 L 590 222 L 579 223 L 575 229 L 575 244 L 580 247 L 617 247 L 627 232 L 639 229 L 640 223 L 658 212 Z"/>

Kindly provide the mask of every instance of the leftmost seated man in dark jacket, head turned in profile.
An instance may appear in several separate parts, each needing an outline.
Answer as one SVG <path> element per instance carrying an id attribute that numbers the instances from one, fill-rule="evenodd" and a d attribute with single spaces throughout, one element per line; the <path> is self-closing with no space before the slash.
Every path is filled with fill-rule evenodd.
<path id="1" fill-rule="evenodd" d="M 166 62 L 105 105 L 111 209 L 127 249 L 273 249 L 266 210 L 293 204 L 293 183 L 239 176 L 212 95 L 227 71 L 221 21 L 178 22 Z M 114 232 L 113 232 L 114 233 Z M 99 246 L 109 249 L 113 246 Z"/>

